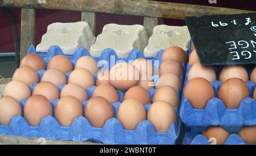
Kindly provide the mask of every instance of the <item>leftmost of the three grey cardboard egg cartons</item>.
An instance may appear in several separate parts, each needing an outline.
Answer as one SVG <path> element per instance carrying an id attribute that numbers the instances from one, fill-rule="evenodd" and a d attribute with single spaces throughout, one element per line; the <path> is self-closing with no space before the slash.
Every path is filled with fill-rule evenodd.
<path id="1" fill-rule="evenodd" d="M 52 45 L 58 45 L 64 54 L 73 54 L 78 47 L 90 49 L 95 39 L 86 22 L 53 23 L 48 26 L 36 50 L 47 52 Z"/>

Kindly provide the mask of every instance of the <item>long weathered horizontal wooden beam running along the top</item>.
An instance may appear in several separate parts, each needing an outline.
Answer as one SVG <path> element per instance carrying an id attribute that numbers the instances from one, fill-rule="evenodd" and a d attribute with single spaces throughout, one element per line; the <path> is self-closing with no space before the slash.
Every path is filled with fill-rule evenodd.
<path id="1" fill-rule="evenodd" d="M 186 16 L 241 14 L 254 11 L 146 0 L 2 0 L 0 6 L 30 9 L 60 9 L 184 19 Z"/>

